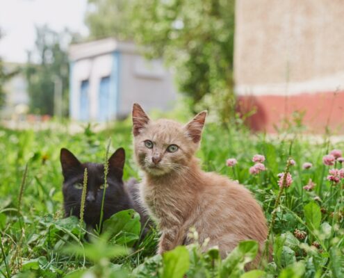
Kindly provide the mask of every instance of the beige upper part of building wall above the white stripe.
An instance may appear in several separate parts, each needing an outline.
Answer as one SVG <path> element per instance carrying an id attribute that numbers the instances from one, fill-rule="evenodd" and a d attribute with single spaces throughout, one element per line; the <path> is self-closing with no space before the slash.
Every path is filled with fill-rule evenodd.
<path id="1" fill-rule="evenodd" d="M 234 68 L 238 88 L 343 74 L 344 1 L 238 0 Z"/>

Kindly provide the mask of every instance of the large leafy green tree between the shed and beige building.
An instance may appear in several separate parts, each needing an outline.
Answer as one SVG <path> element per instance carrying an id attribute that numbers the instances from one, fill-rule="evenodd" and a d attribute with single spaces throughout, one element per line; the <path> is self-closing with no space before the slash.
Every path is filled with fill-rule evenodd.
<path id="1" fill-rule="evenodd" d="M 89 0 L 93 38 L 120 35 L 163 58 L 193 110 L 234 113 L 234 0 Z M 108 23 L 110 21 L 111 23 Z"/>

